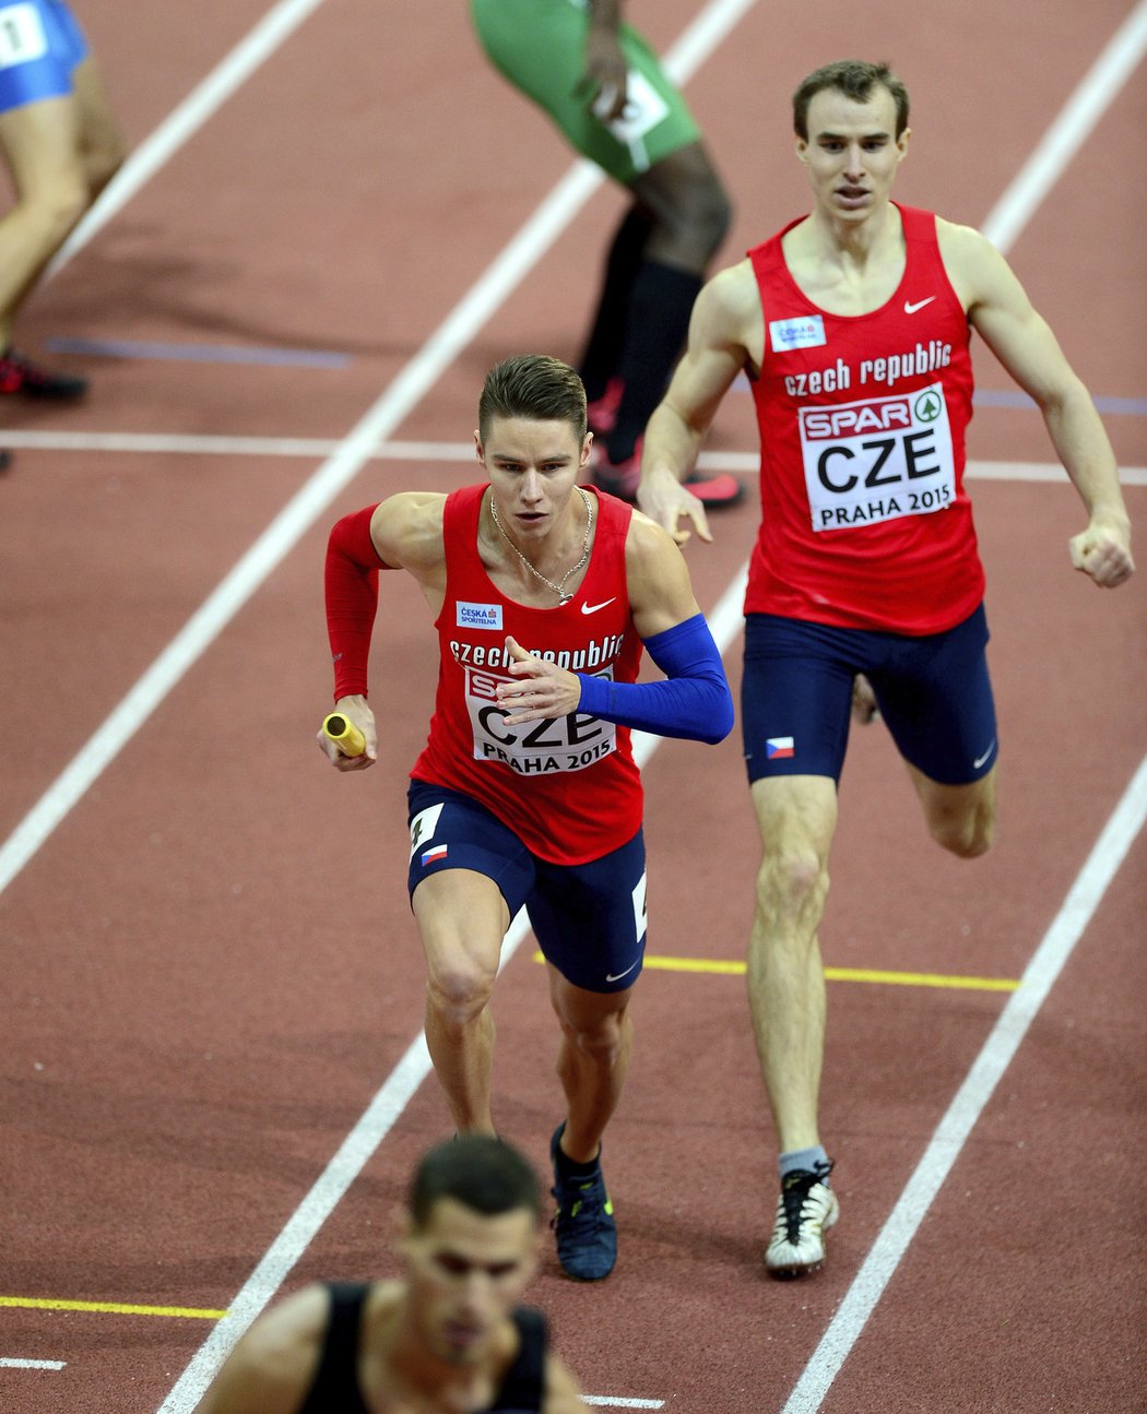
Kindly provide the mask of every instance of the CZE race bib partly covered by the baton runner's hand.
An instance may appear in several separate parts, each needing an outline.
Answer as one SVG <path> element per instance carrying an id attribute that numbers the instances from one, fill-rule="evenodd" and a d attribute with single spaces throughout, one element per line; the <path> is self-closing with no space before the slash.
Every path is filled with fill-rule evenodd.
<path id="1" fill-rule="evenodd" d="M 475 761 L 501 761 L 523 776 L 549 776 L 557 771 L 584 771 L 617 751 L 614 723 L 586 713 L 508 727 L 511 713 L 498 703 L 495 693 L 499 683 L 509 682 L 513 679 L 501 673 L 465 667 L 465 703 Z"/>

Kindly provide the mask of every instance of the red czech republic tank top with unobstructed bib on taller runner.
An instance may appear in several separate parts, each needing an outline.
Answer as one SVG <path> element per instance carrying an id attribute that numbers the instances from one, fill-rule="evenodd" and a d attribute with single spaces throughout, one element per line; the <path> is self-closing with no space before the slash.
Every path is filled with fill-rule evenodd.
<path id="1" fill-rule="evenodd" d="M 897 208 L 907 263 L 871 314 L 817 308 L 781 238 L 750 250 L 765 320 L 752 380 L 761 529 L 745 612 L 936 633 L 983 598 L 963 489 L 972 417 L 967 315 L 929 211 Z"/>

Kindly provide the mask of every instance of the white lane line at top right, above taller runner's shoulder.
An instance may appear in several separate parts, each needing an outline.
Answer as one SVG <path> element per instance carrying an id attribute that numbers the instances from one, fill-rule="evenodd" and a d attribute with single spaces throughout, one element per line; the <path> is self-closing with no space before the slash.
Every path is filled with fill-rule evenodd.
<path id="1" fill-rule="evenodd" d="M 1147 0 L 1140 0 L 1064 105 L 1000 201 L 983 233 L 1010 250 L 1051 188 L 1071 165 L 1082 143 L 1139 68 L 1147 51 Z"/>

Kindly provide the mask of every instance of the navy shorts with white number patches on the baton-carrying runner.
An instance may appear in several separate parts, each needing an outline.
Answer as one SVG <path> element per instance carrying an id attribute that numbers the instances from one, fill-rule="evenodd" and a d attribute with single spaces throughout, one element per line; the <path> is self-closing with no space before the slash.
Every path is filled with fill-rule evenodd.
<path id="1" fill-rule="evenodd" d="M 588 864 L 539 860 L 484 805 L 446 786 L 412 781 L 413 898 L 440 870 L 474 870 L 494 880 L 509 916 L 526 913 L 546 962 L 586 991 L 625 991 L 645 957 L 645 839 Z"/>

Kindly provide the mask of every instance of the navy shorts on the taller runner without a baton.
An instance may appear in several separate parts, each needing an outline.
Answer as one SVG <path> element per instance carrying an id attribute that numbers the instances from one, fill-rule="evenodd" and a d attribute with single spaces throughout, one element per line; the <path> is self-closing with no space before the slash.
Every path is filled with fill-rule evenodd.
<path id="1" fill-rule="evenodd" d="M 741 734 L 748 779 L 832 776 L 849 745 L 853 679 L 873 684 L 897 749 L 939 785 L 996 765 L 983 605 L 943 633 L 911 638 L 745 615 Z"/>

